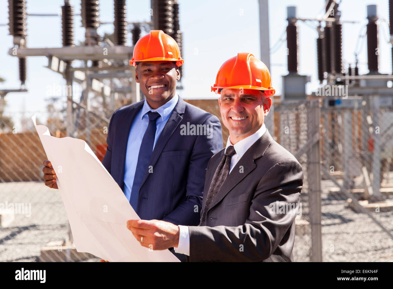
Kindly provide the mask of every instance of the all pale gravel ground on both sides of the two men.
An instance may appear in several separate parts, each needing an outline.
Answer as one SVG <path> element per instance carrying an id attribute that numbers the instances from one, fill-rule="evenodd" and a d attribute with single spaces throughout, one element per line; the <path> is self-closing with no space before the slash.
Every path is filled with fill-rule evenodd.
<path id="1" fill-rule="evenodd" d="M 322 181 L 322 260 L 393 261 L 393 240 L 367 215 L 348 208 L 346 198 L 328 193 L 334 184 Z M 42 182 L 0 183 L 0 203 L 31 203 L 31 216 L 16 214 L 0 227 L 0 261 L 39 261 L 40 249 L 50 241 L 64 240 L 67 215 L 60 194 Z M 307 219 L 307 194 L 303 194 L 303 219 Z M 393 233 L 393 211 L 373 213 Z M 294 261 L 310 261 L 310 228 L 297 232 Z M 91 258 L 86 261 L 99 261 Z"/>

